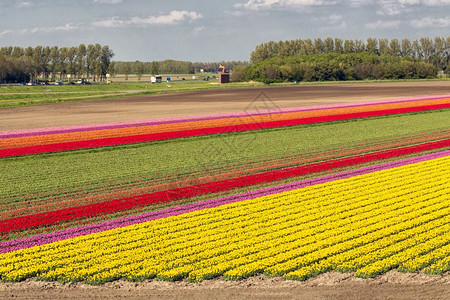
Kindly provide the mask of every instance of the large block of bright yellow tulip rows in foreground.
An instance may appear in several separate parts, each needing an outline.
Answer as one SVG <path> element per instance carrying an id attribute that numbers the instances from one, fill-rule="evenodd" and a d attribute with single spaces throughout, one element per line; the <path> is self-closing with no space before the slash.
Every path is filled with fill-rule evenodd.
<path id="1" fill-rule="evenodd" d="M 358 274 L 375 274 L 385 263 L 445 247 L 449 166 L 444 157 L 3 253 L 0 276 L 99 283 L 265 272 L 301 279 L 358 257 L 366 257 Z M 422 268 L 442 261 L 436 255 Z"/>

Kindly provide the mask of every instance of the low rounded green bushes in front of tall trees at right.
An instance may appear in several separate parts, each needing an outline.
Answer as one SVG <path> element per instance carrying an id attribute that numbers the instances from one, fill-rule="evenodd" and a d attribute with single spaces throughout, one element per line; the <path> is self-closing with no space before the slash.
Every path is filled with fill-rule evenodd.
<path id="1" fill-rule="evenodd" d="M 233 81 L 343 81 L 374 79 L 423 79 L 436 77 L 430 63 L 370 53 L 326 53 L 274 57 L 248 67 L 236 67 Z"/>

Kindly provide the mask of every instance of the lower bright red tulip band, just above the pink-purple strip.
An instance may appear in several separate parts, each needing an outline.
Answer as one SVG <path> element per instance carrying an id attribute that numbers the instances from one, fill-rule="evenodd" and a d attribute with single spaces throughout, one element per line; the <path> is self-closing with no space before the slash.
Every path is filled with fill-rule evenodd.
<path id="1" fill-rule="evenodd" d="M 171 190 L 158 191 L 149 194 L 115 199 L 111 201 L 93 203 L 85 206 L 69 207 L 57 211 L 50 211 L 28 216 L 21 216 L 0 221 L 0 233 L 18 231 L 27 228 L 57 224 L 62 221 L 94 217 L 102 214 L 131 209 L 133 207 L 151 205 L 160 202 L 215 193 L 238 187 L 244 187 L 264 182 L 282 180 L 293 176 L 301 176 L 309 173 L 326 171 L 345 166 L 366 163 L 375 160 L 387 159 L 399 155 L 419 153 L 422 151 L 440 149 L 450 146 L 450 139 L 429 142 L 414 146 L 361 154 L 347 158 L 334 159 L 324 162 L 312 163 L 303 166 L 272 170 L 258 174 L 241 176 L 215 182 L 207 182 L 198 185 L 181 187 Z"/>

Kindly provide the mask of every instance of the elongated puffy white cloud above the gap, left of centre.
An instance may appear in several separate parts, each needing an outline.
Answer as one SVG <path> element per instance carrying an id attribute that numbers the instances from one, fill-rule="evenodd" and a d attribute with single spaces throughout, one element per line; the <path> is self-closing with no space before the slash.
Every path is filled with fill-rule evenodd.
<path id="1" fill-rule="evenodd" d="M 202 18 L 200 13 L 186 10 L 173 10 L 167 15 L 149 16 L 146 18 L 132 17 L 128 20 L 113 17 L 106 20 L 95 21 L 92 23 L 96 27 L 125 27 L 125 26 L 149 26 L 149 25 L 171 25 L 182 22 L 191 22 Z"/>

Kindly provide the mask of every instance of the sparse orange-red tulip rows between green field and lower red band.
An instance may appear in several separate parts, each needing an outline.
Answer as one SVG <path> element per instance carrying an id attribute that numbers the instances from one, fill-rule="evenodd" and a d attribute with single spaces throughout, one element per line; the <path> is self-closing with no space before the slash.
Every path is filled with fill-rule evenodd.
<path id="1" fill-rule="evenodd" d="M 295 155 L 283 156 L 282 158 L 267 158 L 258 161 L 246 161 L 240 165 L 227 166 L 227 168 L 217 167 L 208 171 L 201 170 L 194 173 L 177 174 L 168 176 L 158 176 L 149 180 L 139 180 L 117 185 L 96 186 L 92 189 L 83 186 L 78 191 L 61 193 L 56 195 L 38 194 L 22 198 L 21 201 L 8 201 L 3 198 L 0 204 L 0 219 L 9 219 L 18 216 L 32 215 L 56 209 L 63 209 L 72 206 L 82 206 L 92 203 L 104 202 L 118 198 L 131 197 L 134 195 L 147 194 L 160 190 L 168 190 L 175 187 L 199 184 L 203 182 L 219 181 L 227 178 L 250 175 L 273 169 L 288 168 L 301 164 L 309 164 L 317 161 L 335 159 L 343 156 L 358 155 L 367 152 L 381 151 L 383 149 L 405 147 L 412 144 L 425 143 L 430 141 L 450 138 L 450 132 L 438 131 L 436 133 L 420 133 L 416 135 L 385 138 L 371 143 L 359 144 L 349 149 L 332 148 L 321 151 L 296 153 Z M 33 203 L 31 206 L 30 203 Z"/>

